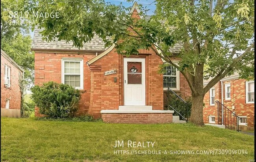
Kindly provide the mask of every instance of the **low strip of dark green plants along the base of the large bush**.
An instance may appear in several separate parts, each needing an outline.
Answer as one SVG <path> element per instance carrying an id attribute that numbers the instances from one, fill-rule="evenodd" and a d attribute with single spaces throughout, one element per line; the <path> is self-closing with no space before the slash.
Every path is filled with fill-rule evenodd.
<path id="1" fill-rule="evenodd" d="M 35 118 L 35 120 L 45 120 L 45 121 L 57 121 L 57 122 L 102 122 L 102 119 L 93 119 L 93 116 L 85 115 L 85 116 L 78 116 L 78 117 L 68 117 L 68 118 Z"/>

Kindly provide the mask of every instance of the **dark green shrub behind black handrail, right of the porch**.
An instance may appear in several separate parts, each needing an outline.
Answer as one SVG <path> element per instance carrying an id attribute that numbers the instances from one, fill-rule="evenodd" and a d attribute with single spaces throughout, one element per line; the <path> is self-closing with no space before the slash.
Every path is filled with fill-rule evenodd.
<path id="1" fill-rule="evenodd" d="M 176 95 L 169 93 L 169 105 L 173 107 L 176 111 L 178 111 L 185 118 L 190 117 L 191 115 L 191 107 L 192 107 L 192 99 L 191 97 L 184 98 L 181 94 L 180 98 L 184 99 L 187 102 L 184 103 L 181 99 L 179 99 Z M 169 107 L 169 110 L 173 110 Z M 187 116 L 187 107 L 188 107 L 188 116 Z M 168 105 L 165 105 L 165 110 L 168 110 Z M 177 112 L 174 111 L 173 116 L 179 116 Z M 181 120 L 181 118 L 180 118 Z"/>

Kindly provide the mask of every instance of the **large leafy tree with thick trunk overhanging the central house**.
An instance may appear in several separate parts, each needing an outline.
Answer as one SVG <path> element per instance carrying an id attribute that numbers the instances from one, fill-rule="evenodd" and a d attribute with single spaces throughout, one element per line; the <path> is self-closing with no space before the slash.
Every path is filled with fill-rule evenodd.
<path id="1" fill-rule="evenodd" d="M 68 0 L 42 1 L 34 11 L 59 13 L 58 18 L 36 19 L 46 40 L 58 38 L 81 47 L 96 34 L 106 46 L 115 43 L 122 55 L 154 50 L 186 78 L 192 92 L 190 121 L 198 125 L 204 124 L 204 95 L 220 79 L 234 72 L 254 78 L 252 0 L 156 0 L 155 15 L 149 20 L 131 18 L 129 9 L 103 0 Z M 175 43 L 183 45 L 178 55 L 169 51 Z M 181 61 L 174 64 L 173 56 Z"/>

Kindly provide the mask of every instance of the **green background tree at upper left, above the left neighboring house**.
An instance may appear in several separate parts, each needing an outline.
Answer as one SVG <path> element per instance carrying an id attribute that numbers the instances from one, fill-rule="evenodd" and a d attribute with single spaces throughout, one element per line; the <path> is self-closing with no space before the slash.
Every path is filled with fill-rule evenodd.
<path id="1" fill-rule="evenodd" d="M 34 80 L 34 53 L 30 19 L 27 13 L 35 3 L 33 0 L 1 1 L 1 49 L 4 50 L 24 70 L 24 78 L 31 85 Z"/>

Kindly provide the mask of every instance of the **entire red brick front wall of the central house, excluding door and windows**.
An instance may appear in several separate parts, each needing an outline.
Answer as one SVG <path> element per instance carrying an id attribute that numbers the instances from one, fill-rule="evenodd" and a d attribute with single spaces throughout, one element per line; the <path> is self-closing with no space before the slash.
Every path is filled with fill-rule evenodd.
<path id="1" fill-rule="evenodd" d="M 139 18 L 136 10 L 132 17 Z M 42 85 L 48 81 L 61 83 L 61 58 L 63 57 L 83 58 L 84 90 L 78 115 L 88 112 L 95 118 L 99 118 L 100 110 L 118 110 L 119 105 L 124 105 L 124 56 L 117 54 L 115 48 L 89 67 L 86 62 L 95 55 L 35 52 L 35 85 Z M 130 57 L 145 58 L 146 105 L 152 105 L 153 110 L 163 110 L 163 75 L 158 73 L 160 64 L 163 64 L 162 60 L 152 49 L 139 50 L 139 55 Z M 117 69 L 116 74 L 104 75 L 104 72 L 114 69 Z M 114 82 L 114 77 L 117 78 L 117 82 Z M 190 95 L 190 89 L 182 75 L 180 87 L 180 92 Z M 39 116 L 38 109 L 35 109 L 35 115 Z"/>

